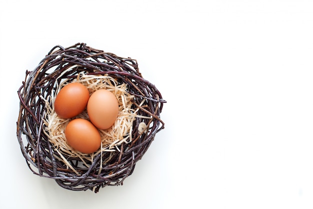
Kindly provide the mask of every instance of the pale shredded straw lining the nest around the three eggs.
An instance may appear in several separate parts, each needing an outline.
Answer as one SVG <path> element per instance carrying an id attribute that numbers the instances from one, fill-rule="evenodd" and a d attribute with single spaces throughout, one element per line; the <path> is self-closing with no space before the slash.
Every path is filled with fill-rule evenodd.
<path id="1" fill-rule="evenodd" d="M 54 145 L 55 150 L 61 158 L 58 156 L 55 157 L 73 169 L 67 161 L 68 157 L 78 157 L 84 166 L 89 167 L 89 164 L 90 162 L 92 163 L 95 155 L 100 152 L 120 151 L 118 149 L 118 145 L 121 143 L 129 143 L 131 141 L 132 123 L 136 117 L 138 109 L 134 110 L 131 108 L 132 102 L 130 100 L 133 96 L 126 91 L 126 84 L 118 84 L 117 81 L 110 76 L 78 74 L 77 79 L 74 79 L 71 82 L 78 82 L 86 86 L 90 95 L 99 89 L 108 90 L 116 96 L 119 106 L 119 113 L 115 123 L 108 129 L 98 129 L 101 136 L 101 146 L 98 151 L 91 154 L 85 154 L 72 149 L 67 144 L 64 130 L 67 123 L 74 118 L 83 118 L 88 120 L 89 117 L 87 111 L 84 110 L 82 113 L 71 119 L 60 118 L 54 111 L 54 98 L 59 90 L 67 84 L 66 81 L 57 87 L 56 94 L 53 97 L 51 96 L 51 98 L 45 100 L 46 114 L 45 118 L 43 118 L 45 124 L 44 133 L 47 135 L 49 141 Z M 103 161 L 102 164 L 106 163 L 108 160 L 109 159 Z"/>

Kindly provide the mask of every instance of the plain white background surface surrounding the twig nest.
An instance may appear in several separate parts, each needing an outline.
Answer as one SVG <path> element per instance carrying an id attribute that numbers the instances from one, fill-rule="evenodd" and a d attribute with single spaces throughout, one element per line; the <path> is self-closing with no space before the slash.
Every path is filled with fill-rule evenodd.
<path id="1" fill-rule="evenodd" d="M 0 1 L 0 208 L 312 208 L 313 3 Z M 55 45 L 138 61 L 165 129 L 124 185 L 70 191 L 19 149 L 17 89 Z"/>

